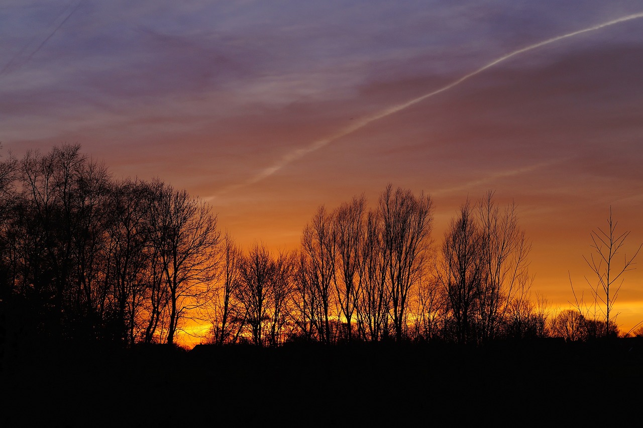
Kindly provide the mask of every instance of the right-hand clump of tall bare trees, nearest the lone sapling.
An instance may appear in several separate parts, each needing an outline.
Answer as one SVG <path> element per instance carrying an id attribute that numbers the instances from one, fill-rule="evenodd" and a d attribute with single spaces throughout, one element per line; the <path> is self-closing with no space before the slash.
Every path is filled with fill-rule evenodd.
<path id="1" fill-rule="evenodd" d="M 530 304 L 530 243 L 516 206 L 501 209 L 488 192 L 465 202 L 451 220 L 435 278 L 446 297 L 446 332 L 458 343 L 485 343 L 499 334 L 543 335 L 544 313 Z"/>

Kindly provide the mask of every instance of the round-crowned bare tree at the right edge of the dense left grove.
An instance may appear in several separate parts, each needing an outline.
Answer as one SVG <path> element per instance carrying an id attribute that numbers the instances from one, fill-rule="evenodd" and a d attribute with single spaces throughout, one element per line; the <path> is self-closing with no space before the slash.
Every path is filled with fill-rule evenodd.
<path id="1" fill-rule="evenodd" d="M 179 320 L 208 296 L 215 275 L 220 233 L 217 218 L 206 202 L 175 190 L 161 181 L 152 183 L 151 242 L 163 271 L 169 296 L 167 343 L 174 343 Z"/>

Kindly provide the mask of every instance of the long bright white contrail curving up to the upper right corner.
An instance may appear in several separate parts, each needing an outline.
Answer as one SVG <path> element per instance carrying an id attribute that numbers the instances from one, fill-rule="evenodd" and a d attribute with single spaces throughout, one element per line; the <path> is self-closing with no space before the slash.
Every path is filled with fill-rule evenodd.
<path id="1" fill-rule="evenodd" d="M 516 51 L 513 51 L 511 53 L 507 53 L 507 55 L 503 55 L 500 58 L 496 58 L 493 61 L 489 62 L 488 64 L 485 64 L 484 66 L 476 69 L 475 71 L 472 71 L 468 75 L 460 77 L 458 80 L 455 80 L 454 82 L 451 82 L 448 85 L 445 85 L 443 87 L 440 87 L 440 89 L 436 89 L 433 92 L 430 92 L 428 94 L 424 94 L 422 96 L 419 96 L 417 98 L 413 98 L 413 100 L 410 100 L 406 103 L 394 105 L 393 107 L 389 107 L 386 110 L 383 110 L 377 114 L 374 114 L 373 116 L 368 116 L 366 118 L 363 118 L 362 120 L 356 121 L 355 123 L 352 123 L 352 125 L 345 127 L 344 129 L 341 129 L 340 131 L 336 132 L 335 134 L 332 134 L 331 136 L 328 136 L 326 138 L 318 139 L 308 145 L 307 147 L 302 147 L 302 148 L 297 148 L 295 150 L 292 150 L 291 152 L 288 152 L 285 154 L 281 159 L 276 161 L 273 165 L 264 168 L 264 170 L 261 170 L 256 174 L 254 177 L 251 177 L 244 183 L 240 184 L 235 184 L 233 186 L 229 186 L 228 188 L 225 188 L 221 192 L 226 192 L 227 190 L 233 190 L 236 188 L 248 186 L 250 184 L 255 184 L 258 181 L 262 181 L 263 179 L 266 179 L 267 177 L 270 177 L 271 175 L 275 174 L 278 170 L 284 168 L 284 166 L 288 165 L 289 163 L 292 163 L 293 161 L 296 161 L 297 159 L 300 159 L 301 157 L 305 156 L 306 154 L 309 154 L 311 152 L 314 152 L 316 150 L 319 150 L 320 148 L 328 145 L 329 143 L 332 143 L 332 141 L 336 141 L 337 139 L 340 139 L 344 136 L 347 136 L 348 134 L 355 132 L 358 129 L 361 129 L 365 126 L 367 126 L 369 123 L 372 123 L 376 120 L 380 120 L 382 118 L 385 118 L 386 116 L 390 116 L 391 114 L 397 113 L 399 111 L 402 111 L 404 109 L 408 109 L 408 107 L 411 107 L 414 104 L 417 104 L 419 102 L 422 102 L 426 100 L 427 98 L 431 98 L 431 96 L 435 96 L 437 94 L 443 93 L 444 91 L 448 91 L 454 86 L 457 86 L 464 82 L 465 80 L 478 75 L 479 73 L 482 73 L 486 69 L 495 66 L 496 64 L 499 64 L 500 62 L 503 62 L 509 58 L 515 57 L 516 55 L 520 55 L 521 53 L 525 53 L 527 51 L 530 51 L 532 49 L 540 48 L 541 46 L 545 46 L 550 43 L 557 42 L 558 40 L 563 40 L 567 39 L 568 37 L 574 37 L 576 35 L 582 34 L 582 33 L 588 33 L 589 31 L 595 31 L 595 30 L 600 30 L 601 28 L 618 24 L 619 22 L 624 22 L 624 21 L 631 21 L 632 19 L 637 19 L 643 17 L 643 12 L 640 13 L 634 13 L 633 15 L 627 15 L 624 17 L 620 17 L 617 19 L 613 19 L 611 21 L 603 22 L 602 24 L 597 24 L 595 26 L 591 26 L 588 28 L 583 28 L 583 30 L 577 30 L 577 31 L 572 31 L 571 33 L 566 33 L 563 35 L 559 35 L 557 37 L 552 37 L 551 39 L 543 40 L 542 42 L 530 44 L 526 48 L 521 48 Z"/>

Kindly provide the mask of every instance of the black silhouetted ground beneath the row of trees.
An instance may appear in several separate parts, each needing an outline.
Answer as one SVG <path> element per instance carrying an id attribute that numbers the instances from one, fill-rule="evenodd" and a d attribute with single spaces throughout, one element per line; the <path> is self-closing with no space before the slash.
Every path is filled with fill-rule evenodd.
<path id="1" fill-rule="evenodd" d="M 33 346 L 1 427 L 640 426 L 643 344 Z"/>

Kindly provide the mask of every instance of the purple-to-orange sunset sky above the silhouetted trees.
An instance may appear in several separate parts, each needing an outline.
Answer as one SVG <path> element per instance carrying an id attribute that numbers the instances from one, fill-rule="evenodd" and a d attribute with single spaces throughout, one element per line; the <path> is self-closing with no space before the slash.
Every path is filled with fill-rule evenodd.
<path id="1" fill-rule="evenodd" d="M 1 0 L 0 154 L 78 143 L 296 249 L 318 206 L 386 184 L 518 206 L 532 293 L 595 282 L 590 233 L 643 242 L 643 1 Z M 643 260 L 643 254 L 638 257 Z M 615 311 L 643 321 L 643 267 Z"/>

